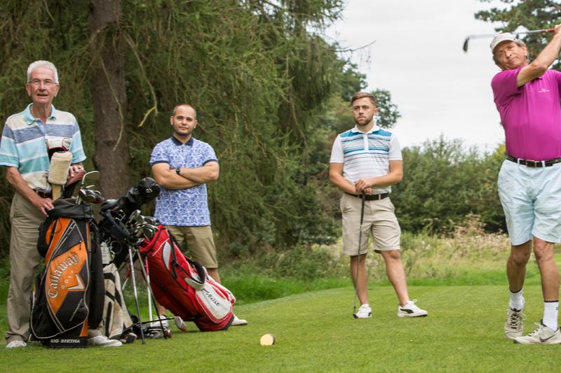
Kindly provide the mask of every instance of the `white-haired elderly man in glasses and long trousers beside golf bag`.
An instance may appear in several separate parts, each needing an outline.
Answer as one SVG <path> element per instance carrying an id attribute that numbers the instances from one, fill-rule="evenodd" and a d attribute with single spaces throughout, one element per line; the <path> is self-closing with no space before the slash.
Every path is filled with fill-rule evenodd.
<path id="1" fill-rule="evenodd" d="M 47 181 L 48 146 L 64 144 L 72 152 L 71 176 L 82 169 L 86 159 L 76 118 L 52 105 L 59 90 L 55 65 L 48 61 L 30 64 L 25 90 L 32 103 L 6 120 L 0 142 L 0 166 L 6 167 L 6 179 L 15 189 L 10 211 L 6 348 L 25 347 L 29 338 L 29 293 L 41 261 L 39 225 L 53 209 Z"/>

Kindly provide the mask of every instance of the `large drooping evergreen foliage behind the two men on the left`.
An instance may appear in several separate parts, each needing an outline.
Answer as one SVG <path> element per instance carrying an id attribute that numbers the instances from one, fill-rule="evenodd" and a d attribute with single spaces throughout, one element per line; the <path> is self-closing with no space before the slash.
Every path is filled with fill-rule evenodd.
<path id="1" fill-rule="evenodd" d="M 314 151 L 330 139 L 318 142 L 313 134 L 328 105 L 363 84 L 316 34 L 339 15 L 342 1 L 122 0 L 121 22 L 95 35 L 88 34 L 87 5 L 0 4 L 0 118 L 27 104 L 29 62 L 53 61 L 61 80 L 55 106 L 78 118 L 86 167 L 95 167 L 88 47 L 93 38 L 111 43 L 119 34 L 126 41 L 132 180 L 150 174 L 151 148 L 170 135 L 170 110 L 187 101 L 198 111 L 194 136 L 214 146 L 221 164 L 210 207 L 224 251 L 242 255 L 334 237 L 309 179 L 326 162 Z M 4 178 L 0 190 L 4 252 L 12 193 Z"/>

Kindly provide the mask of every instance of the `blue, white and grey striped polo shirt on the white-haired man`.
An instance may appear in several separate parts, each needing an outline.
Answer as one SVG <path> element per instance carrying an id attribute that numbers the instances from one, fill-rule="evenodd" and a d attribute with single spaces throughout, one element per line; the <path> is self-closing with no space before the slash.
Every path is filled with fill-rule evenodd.
<path id="1" fill-rule="evenodd" d="M 0 166 L 16 167 L 32 189 L 50 190 L 47 144 L 53 147 L 69 142 L 73 164 L 86 160 L 86 154 L 74 115 L 51 106 L 50 117 L 43 123 L 34 118 L 31 106 L 6 120 L 0 141 Z"/>

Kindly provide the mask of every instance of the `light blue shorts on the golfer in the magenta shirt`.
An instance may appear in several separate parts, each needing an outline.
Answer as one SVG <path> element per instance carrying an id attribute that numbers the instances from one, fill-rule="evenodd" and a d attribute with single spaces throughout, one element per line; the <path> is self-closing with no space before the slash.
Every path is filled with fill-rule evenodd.
<path id="1" fill-rule="evenodd" d="M 533 237 L 561 241 L 561 163 L 526 167 L 505 160 L 499 171 L 499 197 L 513 245 Z"/>

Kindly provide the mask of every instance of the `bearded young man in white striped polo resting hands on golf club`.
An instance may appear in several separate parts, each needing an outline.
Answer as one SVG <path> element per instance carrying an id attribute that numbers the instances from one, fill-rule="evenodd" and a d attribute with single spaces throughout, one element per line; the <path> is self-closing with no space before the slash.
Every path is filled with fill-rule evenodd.
<path id="1" fill-rule="evenodd" d="M 372 94 L 354 94 L 351 108 L 356 126 L 335 139 L 329 174 L 330 181 L 344 192 L 341 198 L 343 253 L 351 256 L 351 277 L 361 304 L 358 312 L 355 304 L 353 316 L 372 316 L 366 271 L 370 234 L 374 251 L 384 258 L 388 279 L 398 295 L 398 316 L 426 316 L 427 312 L 417 307 L 416 300 L 410 301 L 407 293 L 399 254 L 401 230 L 389 199 L 391 185 L 403 178 L 398 139 L 374 125 L 378 109 Z"/>

